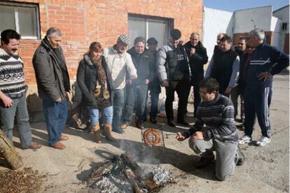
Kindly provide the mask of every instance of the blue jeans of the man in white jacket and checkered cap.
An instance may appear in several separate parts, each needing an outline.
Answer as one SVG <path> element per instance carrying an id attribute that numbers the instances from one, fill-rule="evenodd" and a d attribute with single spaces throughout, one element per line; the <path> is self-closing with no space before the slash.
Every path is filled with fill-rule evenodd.
<path id="1" fill-rule="evenodd" d="M 124 89 L 112 90 L 111 99 L 113 103 L 113 122 L 112 130 L 120 131 L 120 119 L 122 116 L 122 110 L 124 105 Z"/>

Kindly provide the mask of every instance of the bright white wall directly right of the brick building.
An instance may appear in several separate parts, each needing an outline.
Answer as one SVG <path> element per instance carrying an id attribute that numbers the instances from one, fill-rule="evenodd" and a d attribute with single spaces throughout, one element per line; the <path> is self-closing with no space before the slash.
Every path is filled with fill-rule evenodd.
<path id="1" fill-rule="evenodd" d="M 207 48 L 209 59 L 212 59 L 216 36 L 220 33 L 233 37 L 233 13 L 204 7 L 202 44 Z"/>

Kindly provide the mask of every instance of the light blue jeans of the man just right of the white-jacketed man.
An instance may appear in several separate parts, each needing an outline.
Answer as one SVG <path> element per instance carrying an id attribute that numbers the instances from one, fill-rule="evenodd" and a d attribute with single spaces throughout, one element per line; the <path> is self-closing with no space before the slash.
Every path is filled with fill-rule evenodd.
<path id="1" fill-rule="evenodd" d="M 134 107 L 136 109 L 135 122 L 137 124 L 142 122 L 147 92 L 148 85 L 146 84 L 126 86 L 126 102 L 122 117 L 123 124 L 131 124 Z"/>

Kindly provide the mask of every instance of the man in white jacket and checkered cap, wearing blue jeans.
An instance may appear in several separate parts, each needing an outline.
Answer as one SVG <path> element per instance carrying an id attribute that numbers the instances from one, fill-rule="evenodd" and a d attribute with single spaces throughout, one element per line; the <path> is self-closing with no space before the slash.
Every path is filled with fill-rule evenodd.
<path id="1" fill-rule="evenodd" d="M 104 50 L 104 58 L 107 65 L 106 71 L 111 85 L 111 100 L 113 103 L 112 131 L 119 134 L 124 132 L 120 129 L 120 119 L 124 105 L 125 77 L 128 74 L 128 83 L 132 83 L 132 80 L 137 78 L 137 71 L 132 58 L 126 52 L 128 44 L 129 38 L 127 35 L 121 34 L 115 45 Z"/>

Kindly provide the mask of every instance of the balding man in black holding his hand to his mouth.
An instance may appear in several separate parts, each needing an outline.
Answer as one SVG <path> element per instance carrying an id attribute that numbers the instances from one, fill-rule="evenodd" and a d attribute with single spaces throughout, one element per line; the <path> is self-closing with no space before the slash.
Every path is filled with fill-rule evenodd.
<path id="1" fill-rule="evenodd" d="M 190 41 L 184 44 L 186 54 L 188 55 L 189 65 L 191 66 L 191 86 L 193 86 L 193 115 L 196 117 L 196 110 L 200 104 L 199 85 L 200 81 L 204 78 L 203 65 L 207 64 L 207 49 L 203 47 L 200 42 L 198 33 L 192 33 Z M 191 87 L 188 87 L 188 95 Z"/>

